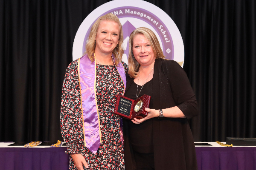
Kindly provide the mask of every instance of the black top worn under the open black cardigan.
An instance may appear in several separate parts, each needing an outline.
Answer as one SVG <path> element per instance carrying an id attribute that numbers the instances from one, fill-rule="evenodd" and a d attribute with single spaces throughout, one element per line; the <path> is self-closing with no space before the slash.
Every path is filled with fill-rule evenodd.
<path id="1" fill-rule="evenodd" d="M 136 99 L 136 92 L 139 94 L 138 98 L 147 94 L 151 96 L 149 108 L 152 108 L 153 104 L 153 97 L 152 97 L 152 79 L 145 83 L 144 86 L 138 85 L 137 91 L 137 84 L 133 81 L 129 90 L 126 93 L 126 97 L 130 99 Z M 142 88 L 143 87 L 143 88 Z M 141 91 L 140 91 L 141 89 Z M 128 121 L 128 128 L 129 128 L 129 137 L 130 143 L 136 152 L 139 153 L 153 153 L 153 133 L 152 133 L 152 119 L 149 119 L 142 124 L 134 124 L 132 121 Z"/>

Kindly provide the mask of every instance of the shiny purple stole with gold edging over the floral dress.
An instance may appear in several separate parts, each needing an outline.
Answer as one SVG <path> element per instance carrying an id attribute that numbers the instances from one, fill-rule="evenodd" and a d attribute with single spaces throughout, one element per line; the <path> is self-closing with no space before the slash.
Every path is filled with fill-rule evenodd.
<path id="1" fill-rule="evenodd" d="M 126 78 L 125 69 L 121 62 L 118 63 L 116 69 L 124 83 L 124 94 Z M 81 93 L 84 146 L 95 154 L 101 144 L 101 129 L 96 99 L 96 62 L 91 62 L 87 54 L 84 55 L 78 60 L 78 72 Z M 121 123 L 122 122 L 120 122 L 120 136 L 123 140 Z"/>

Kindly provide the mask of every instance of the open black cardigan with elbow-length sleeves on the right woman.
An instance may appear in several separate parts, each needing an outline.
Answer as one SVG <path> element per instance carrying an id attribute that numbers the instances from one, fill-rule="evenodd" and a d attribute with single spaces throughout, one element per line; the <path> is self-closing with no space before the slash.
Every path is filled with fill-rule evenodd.
<path id="1" fill-rule="evenodd" d="M 126 91 L 132 81 L 127 76 Z M 187 119 L 198 115 L 195 94 L 186 72 L 173 60 L 156 59 L 153 76 L 153 108 L 177 106 L 186 118 L 153 118 L 155 170 L 196 170 L 195 144 Z M 124 121 L 125 169 L 136 170 L 129 144 L 128 120 Z"/>

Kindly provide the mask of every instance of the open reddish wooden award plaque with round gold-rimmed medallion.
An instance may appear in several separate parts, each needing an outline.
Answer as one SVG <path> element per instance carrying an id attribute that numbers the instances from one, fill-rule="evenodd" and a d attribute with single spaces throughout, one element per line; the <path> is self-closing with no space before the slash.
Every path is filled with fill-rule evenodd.
<path id="1" fill-rule="evenodd" d="M 116 105 L 114 113 L 125 119 L 133 119 L 134 117 L 148 116 L 148 112 L 145 108 L 148 108 L 150 102 L 150 96 L 144 94 L 140 98 L 133 100 L 128 97 L 118 95 L 116 99 Z"/>

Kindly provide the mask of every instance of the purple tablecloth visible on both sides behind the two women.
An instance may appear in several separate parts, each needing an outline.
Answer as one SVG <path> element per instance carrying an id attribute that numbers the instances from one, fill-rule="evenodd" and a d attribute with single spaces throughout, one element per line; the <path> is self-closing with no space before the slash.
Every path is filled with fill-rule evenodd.
<path id="1" fill-rule="evenodd" d="M 68 170 L 66 147 L 0 147 L 0 170 Z M 256 147 L 196 147 L 198 170 L 256 170 Z"/>

